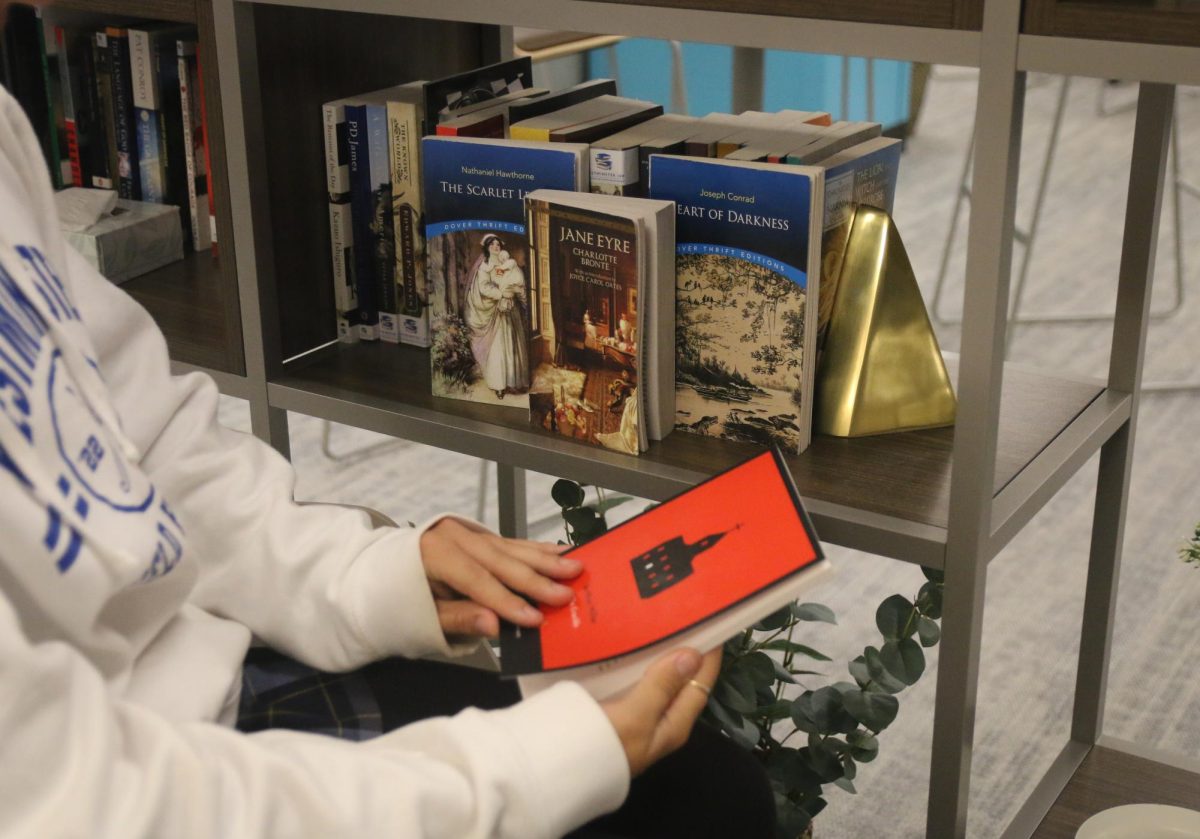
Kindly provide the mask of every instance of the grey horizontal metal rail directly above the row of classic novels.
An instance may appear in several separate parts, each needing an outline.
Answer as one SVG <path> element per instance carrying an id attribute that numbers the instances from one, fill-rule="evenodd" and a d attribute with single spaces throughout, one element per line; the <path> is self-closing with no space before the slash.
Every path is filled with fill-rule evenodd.
<path id="1" fill-rule="evenodd" d="M 342 8 L 338 0 L 247 0 L 260 5 Z M 978 66 L 978 31 L 824 20 L 785 14 L 745 14 L 740 10 L 712 11 L 596 2 L 544 0 L 360 0 L 356 12 L 400 14 L 436 20 L 530 26 L 596 35 L 636 35 L 648 38 L 702 41 L 742 47 L 804 50 L 832 55 Z"/>

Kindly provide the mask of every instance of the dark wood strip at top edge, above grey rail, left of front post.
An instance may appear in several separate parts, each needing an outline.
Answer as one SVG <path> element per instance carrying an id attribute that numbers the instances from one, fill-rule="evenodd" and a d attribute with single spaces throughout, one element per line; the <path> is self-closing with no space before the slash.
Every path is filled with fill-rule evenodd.
<path id="1" fill-rule="evenodd" d="M 727 0 L 602 0 L 634 6 L 730 11 Z M 880 23 L 896 26 L 973 29 L 983 26 L 983 0 L 743 0 L 746 14 Z"/>

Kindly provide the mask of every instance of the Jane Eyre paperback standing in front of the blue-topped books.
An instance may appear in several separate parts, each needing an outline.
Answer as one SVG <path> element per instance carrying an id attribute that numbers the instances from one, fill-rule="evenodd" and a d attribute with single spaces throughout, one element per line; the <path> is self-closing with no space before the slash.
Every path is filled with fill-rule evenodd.
<path id="1" fill-rule="evenodd" d="M 674 206 L 539 190 L 529 214 L 529 421 L 636 455 L 670 431 Z"/>

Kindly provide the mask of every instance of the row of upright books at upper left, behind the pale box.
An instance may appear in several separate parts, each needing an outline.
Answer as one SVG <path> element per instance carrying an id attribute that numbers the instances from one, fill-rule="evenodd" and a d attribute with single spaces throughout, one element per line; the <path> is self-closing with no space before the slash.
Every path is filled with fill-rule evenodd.
<path id="1" fill-rule="evenodd" d="M 193 26 L 82 25 L 16 8 L 6 83 L 30 114 L 56 187 L 180 208 L 185 248 L 215 241 L 208 114 Z"/>

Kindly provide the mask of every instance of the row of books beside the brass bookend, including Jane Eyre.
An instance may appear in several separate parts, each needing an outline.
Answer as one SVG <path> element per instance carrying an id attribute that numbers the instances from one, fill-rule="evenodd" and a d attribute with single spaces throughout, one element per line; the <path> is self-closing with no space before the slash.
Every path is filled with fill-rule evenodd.
<path id="1" fill-rule="evenodd" d="M 326 106 L 342 340 L 432 346 L 434 395 L 630 454 L 673 430 L 803 450 L 852 209 L 890 211 L 899 140 L 511 77 Z"/>

